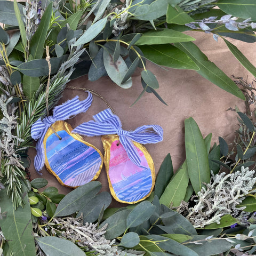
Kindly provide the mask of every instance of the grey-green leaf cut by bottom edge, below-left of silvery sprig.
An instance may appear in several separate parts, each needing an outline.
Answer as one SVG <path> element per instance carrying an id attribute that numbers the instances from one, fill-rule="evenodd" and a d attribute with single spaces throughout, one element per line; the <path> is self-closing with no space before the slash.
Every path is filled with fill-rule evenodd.
<path id="1" fill-rule="evenodd" d="M 41 249 L 49 256 L 85 256 L 86 254 L 67 239 L 46 236 L 35 238 Z"/>

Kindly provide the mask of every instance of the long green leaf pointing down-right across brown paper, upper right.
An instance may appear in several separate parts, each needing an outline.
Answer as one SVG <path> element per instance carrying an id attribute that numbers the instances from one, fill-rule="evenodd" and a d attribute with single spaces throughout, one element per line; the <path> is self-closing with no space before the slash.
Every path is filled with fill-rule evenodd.
<path id="1" fill-rule="evenodd" d="M 206 55 L 202 53 L 194 43 L 174 43 L 174 46 L 187 53 L 189 57 L 196 63 L 196 65 L 200 68 L 197 71 L 199 75 L 208 79 L 221 89 L 245 100 L 243 92 L 237 87 L 234 81 L 225 75 L 223 71 L 220 70 L 213 62 L 209 61 Z"/>

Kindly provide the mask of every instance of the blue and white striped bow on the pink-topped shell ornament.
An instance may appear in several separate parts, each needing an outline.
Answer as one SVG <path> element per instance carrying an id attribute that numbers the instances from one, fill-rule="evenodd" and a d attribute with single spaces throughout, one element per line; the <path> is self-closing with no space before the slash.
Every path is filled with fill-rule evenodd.
<path id="1" fill-rule="evenodd" d="M 159 125 L 143 125 L 134 131 L 125 131 L 118 116 L 111 110 L 105 109 L 93 116 L 95 121 L 89 121 L 78 125 L 72 132 L 87 136 L 117 134 L 131 161 L 140 166 L 140 157 L 133 141 L 146 144 L 157 143 L 163 140 L 163 129 Z M 153 131 L 149 130 L 153 129 Z"/>

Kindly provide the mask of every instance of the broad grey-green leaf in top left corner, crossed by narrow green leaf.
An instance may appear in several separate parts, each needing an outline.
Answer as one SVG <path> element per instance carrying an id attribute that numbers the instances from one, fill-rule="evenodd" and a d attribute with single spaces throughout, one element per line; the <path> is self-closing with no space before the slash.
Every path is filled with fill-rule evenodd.
<path id="1" fill-rule="evenodd" d="M 15 15 L 13 2 L 1 1 L 0 3 L 1 3 L 0 22 L 7 25 L 18 26 L 19 23 Z M 23 20 L 23 18 L 25 18 L 22 12 L 23 5 L 20 3 L 17 3 L 17 6 L 18 6 L 18 9 L 20 10 L 21 20 Z"/>

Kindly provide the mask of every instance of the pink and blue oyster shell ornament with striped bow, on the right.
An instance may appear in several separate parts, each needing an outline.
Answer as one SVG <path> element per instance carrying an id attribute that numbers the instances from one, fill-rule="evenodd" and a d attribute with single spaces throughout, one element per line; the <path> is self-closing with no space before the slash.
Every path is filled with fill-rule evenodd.
<path id="1" fill-rule="evenodd" d="M 93 118 L 94 121 L 78 125 L 72 132 L 87 136 L 102 135 L 111 195 L 116 201 L 129 204 L 147 198 L 155 185 L 155 167 L 141 143 L 162 141 L 162 127 L 144 125 L 134 131 L 125 131 L 118 116 L 109 108 Z"/>

